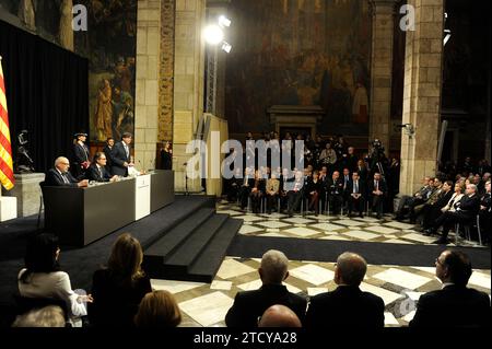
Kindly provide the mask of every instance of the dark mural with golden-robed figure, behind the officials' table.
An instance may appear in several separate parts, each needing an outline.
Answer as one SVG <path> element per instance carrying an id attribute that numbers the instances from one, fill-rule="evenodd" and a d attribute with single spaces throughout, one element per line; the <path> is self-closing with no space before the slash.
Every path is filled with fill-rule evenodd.
<path id="1" fill-rule="evenodd" d="M 137 0 L 84 0 L 89 31 L 75 36 L 89 57 L 90 136 L 119 139 L 134 130 Z"/>

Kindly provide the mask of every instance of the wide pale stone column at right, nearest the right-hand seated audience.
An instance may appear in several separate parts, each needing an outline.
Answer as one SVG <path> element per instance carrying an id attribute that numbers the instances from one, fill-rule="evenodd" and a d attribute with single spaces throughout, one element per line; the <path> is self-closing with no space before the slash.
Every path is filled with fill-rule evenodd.
<path id="1" fill-rule="evenodd" d="M 435 175 L 441 120 L 444 0 L 409 0 L 415 31 L 407 32 L 403 124 L 414 136 L 401 136 L 400 194 L 417 190 L 424 176 Z"/>

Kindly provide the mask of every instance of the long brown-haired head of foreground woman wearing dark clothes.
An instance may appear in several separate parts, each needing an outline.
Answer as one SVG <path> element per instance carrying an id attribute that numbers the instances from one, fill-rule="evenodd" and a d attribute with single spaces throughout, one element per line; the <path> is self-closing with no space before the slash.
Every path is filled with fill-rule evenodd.
<path id="1" fill-rule="evenodd" d="M 143 275 L 140 266 L 143 252 L 140 242 L 128 233 L 120 235 L 113 245 L 107 267 L 112 275 L 134 281 Z"/>

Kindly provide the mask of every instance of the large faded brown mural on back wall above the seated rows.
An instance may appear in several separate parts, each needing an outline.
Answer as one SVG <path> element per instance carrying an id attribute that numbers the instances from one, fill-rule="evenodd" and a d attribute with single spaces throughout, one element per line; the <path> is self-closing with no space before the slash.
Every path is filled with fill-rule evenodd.
<path id="1" fill-rule="evenodd" d="M 320 105 L 321 133 L 366 135 L 371 16 L 360 0 L 233 0 L 232 132 L 270 129 L 272 105 Z"/>

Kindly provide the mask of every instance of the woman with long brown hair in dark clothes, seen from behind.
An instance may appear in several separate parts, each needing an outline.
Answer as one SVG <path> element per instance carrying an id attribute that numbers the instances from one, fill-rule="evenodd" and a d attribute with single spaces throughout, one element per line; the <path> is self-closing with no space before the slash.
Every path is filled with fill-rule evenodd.
<path id="1" fill-rule="evenodd" d="M 150 278 L 141 269 L 143 252 L 137 239 L 120 235 L 109 256 L 107 267 L 93 276 L 89 318 L 101 327 L 132 327 L 140 301 L 152 292 Z"/>

